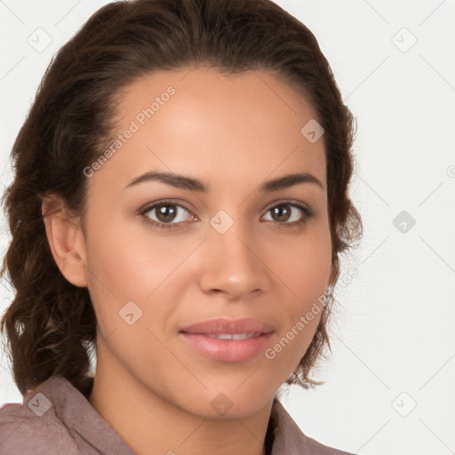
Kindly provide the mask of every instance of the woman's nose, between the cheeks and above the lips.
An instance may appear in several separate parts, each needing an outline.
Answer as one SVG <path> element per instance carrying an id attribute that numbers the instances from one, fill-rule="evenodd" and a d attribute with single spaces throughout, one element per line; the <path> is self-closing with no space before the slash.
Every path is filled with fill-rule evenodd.
<path id="1" fill-rule="evenodd" d="M 254 241 L 254 233 L 240 221 L 220 232 L 211 226 L 203 245 L 200 280 L 204 292 L 223 293 L 234 300 L 265 291 L 268 268 L 261 259 L 257 235 Z"/>

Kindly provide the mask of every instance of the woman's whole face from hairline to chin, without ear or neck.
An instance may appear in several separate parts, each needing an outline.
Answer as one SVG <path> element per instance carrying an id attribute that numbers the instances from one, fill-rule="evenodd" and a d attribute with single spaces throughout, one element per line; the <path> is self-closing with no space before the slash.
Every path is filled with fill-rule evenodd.
<path id="1" fill-rule="evenodd" d="M 117 142 L 84 171 L 97 376 L 196 415 L 259 411 L 307 351 L 330 283 L 315 111 L 266 72 L 193 68 L 135 82 L 117 114 Z M 256 335 L 212 338 L 239 331 Z"/>

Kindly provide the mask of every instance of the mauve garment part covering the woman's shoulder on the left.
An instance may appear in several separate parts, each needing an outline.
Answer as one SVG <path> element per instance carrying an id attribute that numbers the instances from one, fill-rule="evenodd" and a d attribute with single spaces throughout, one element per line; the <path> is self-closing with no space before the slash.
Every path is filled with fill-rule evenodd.
<path id="1" fill-rule="evenodd" d="M 22 404 L 0 409 L 0 453 L 134 455 L 87 395 L 58 375 L 24 395 Z"/>

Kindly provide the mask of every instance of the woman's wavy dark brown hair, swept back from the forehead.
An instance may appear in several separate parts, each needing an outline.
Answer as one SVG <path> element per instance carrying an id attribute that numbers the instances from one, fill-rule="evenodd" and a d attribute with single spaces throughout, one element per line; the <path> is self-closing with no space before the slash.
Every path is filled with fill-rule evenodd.
<path id="1" fill-rule="evenodd" d="M 96 319 L 87 288 L 60 273 L 44 229 L 46 194 L 84 213 L 84 168 L 114 132 L 116 96 L 156 70 L 209 66 L 235 73 L 265 69 L 305 93 L 325 130 L 332 265 L 360 238 L 362 223 L 348 195 L 354 121 L 315 36 L 269 0 L 136 0 L 103 6 L 61 47 L 12 147 L 15 177 L 3 204 L 12 232 L 4 258 L 16 294 L 5 311 L 12 375 L 24 394 L 53 374 L 84 395 L 91 378 Z M 302 125 L 303 126 L 303 125 Z M 304 388 L 322 382 L 309 372 L 330 348 L 327 294 L 314 339 L 286 380 Z"/>

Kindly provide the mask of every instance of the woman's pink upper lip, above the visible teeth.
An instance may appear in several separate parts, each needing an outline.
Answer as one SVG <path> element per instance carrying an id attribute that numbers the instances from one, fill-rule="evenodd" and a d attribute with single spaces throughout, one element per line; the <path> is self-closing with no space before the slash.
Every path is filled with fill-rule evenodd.
<path id="1" fill-rule="evenodd" d="M 274 329 L 267 323 L 253 319 L 208 319 L 200 323 L 183 327 L 180 331 L 186 333 L 270 333 Z"/>

